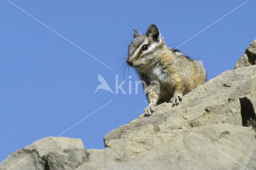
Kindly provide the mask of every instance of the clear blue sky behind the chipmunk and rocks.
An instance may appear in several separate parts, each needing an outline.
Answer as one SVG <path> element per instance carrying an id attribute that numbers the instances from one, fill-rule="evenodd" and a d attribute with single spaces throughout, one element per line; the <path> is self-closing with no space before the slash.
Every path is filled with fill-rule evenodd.
<path id="1" fill-rule="evenodd" d="M 82 139 L 86 149 L 104 148 L 107 132 L 138 118 L 147 106 L 141 85 L 135 94 L 134 69 L 124 72 L 132 28 L 144 34 L 154 23 L 175 48 L 246 0 L 11 2 L 113 70 L 1 0 L 0 161 L 35 140 L 58 136 L 113 100 L 61 135 Z M 256 39 L 255 9 L 255 1 L 248 1 L 178 49 L 203 61 L 208 80 L 233 69 Z M 126 93 L 131 81 L 132 94 L 94 94 L 98 74 L 113 91 L 116 75 L 118 84 L 126 81 Z"/>

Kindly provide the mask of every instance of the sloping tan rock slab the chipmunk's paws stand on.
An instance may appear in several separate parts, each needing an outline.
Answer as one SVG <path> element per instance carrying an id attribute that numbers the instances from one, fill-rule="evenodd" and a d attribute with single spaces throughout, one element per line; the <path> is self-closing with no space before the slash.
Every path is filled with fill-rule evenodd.
<path id="1" fill-rule="evenodd" d="M 110 131 L 104 136 L 105 146 L 116 152 L 122 150 L 123 159 L 130 160 L 134 155 L 166 142 L 185 128 L 222 123 L 248 126 L 242 120 L 255 120 L 254 108 L 246 112 L 243 107 L 248 108 L 248 97 L 255 107 L 255 90 L 256 65 L 225 71 L 184 95 L 180 105 L 172 107 L 171 103 L 162 103 L 156 106 L 150 117 L 141 115 L 128 125 Z"/>

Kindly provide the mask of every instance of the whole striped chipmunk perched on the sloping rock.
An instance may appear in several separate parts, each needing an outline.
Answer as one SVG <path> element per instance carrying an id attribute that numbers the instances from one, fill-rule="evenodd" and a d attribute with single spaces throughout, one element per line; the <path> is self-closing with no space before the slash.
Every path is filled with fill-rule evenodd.
<path id="1" fill-rule="evenodd" d="M 171 102 L 180 104 L 182 96 L 206 82 L 202 61 L 192 60 L 177 49 L 168 47 L 156 25 L 146 34 L 133 28 L 134 39 L 128 47 L 126 62 L 134 67 L 143 83 L 149 105 L 144 116 L 154 112 L 154 106 Z"/>

